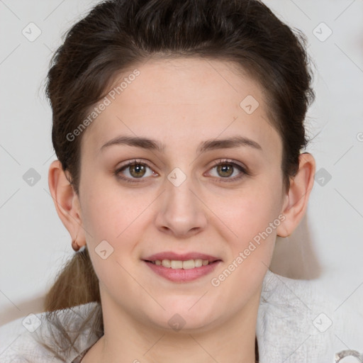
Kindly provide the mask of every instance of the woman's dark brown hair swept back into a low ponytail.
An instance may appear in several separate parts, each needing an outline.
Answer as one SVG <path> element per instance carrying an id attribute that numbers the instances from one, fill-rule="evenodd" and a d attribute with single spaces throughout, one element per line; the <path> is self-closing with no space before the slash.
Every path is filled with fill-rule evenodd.
<path id="1" fill-rule="evenodd" d="M 77 194 L 79 150 L 86 130 L 71 141 L 67 135 L 107 94 L 116 74 L 150 57 L 233 61 L 259 82 L 269 121 L 281 136 L 281 173 L 284 188 L 289 188 L 308 143 L 303 123 L 315 98 L 305 35 L 282 23 L 258 0 L 111 0 L 96 5 L 68 30 L 48 72 L 52 143 Z M 101 303 L 85 247 L 57 277 L 46 296 L 45 311 L 91 301 Z M 100 335 L 101 320 L 100 315 L 95 328 Z"/>

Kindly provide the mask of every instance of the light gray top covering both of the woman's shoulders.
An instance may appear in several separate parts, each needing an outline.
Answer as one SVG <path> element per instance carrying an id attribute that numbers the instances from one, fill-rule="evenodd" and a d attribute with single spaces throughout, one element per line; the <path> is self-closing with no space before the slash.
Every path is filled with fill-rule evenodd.
<path id="1" fill-rule="evenodd" d="M 360 356 L 349 362 L 363 362 L 363 316 L 314 286 L 311 281 L 289 279 L 267 271 L 257 315 L 259 363 L 335 363 L 339 355 L 345 354 Z M 96 302 L 86 303 L 58 311 L 67 331 L 77 332 L 79 323 L 96 305 Z M 91 335 L 87 325 L 75 349 L 55 358 L 35 336 L 44 342 L 56 339 L 50 334 L 45 313 L 2 325 L 0 362 L 79 363 L 99 339 Z"/>

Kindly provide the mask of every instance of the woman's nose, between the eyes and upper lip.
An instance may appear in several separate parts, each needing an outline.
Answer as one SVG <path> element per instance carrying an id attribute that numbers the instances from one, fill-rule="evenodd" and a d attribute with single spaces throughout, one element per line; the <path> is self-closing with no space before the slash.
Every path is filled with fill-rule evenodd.
<path id="1" fill-rule="evenodd" d="M 157 228 L 179 239 L 190 238 L 204 230 L 207 225 L 208 208 L 191 178 L 186 177 L 179 186 L 166 180 L 165 188 L 160 196 L 160 206 L 155 220 Z"/>

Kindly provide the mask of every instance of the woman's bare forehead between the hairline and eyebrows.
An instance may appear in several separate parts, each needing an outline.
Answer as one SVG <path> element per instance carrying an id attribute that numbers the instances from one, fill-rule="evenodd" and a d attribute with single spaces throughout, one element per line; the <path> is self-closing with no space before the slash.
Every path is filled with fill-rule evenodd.
<path id="1" fill-rule="evenodd" d="M 267 156 L 281 153 L 262 89 L 232 62 L 149 60 L 118 74 L 109 90 L 94 105 L 107 104 L 87 127 L 82 152 L 98 152 L 117 135 L 160 140 L 167 149 L 242 135 L 264 144 Z"/>

